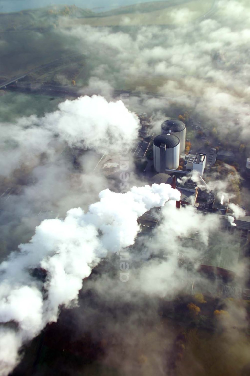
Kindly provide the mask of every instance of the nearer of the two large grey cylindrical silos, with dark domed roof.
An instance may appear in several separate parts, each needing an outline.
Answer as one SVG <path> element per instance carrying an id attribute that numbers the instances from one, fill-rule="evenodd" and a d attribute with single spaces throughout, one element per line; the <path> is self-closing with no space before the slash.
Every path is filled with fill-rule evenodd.
<path id="1" fill-rule="evenodd" d="M 180 159 L 180 139 L 175 135 L 162 134 L 153 141 L 154 168 L 165 173 L 166 168 L 177 169 Z"/>

